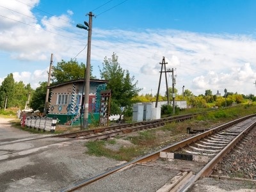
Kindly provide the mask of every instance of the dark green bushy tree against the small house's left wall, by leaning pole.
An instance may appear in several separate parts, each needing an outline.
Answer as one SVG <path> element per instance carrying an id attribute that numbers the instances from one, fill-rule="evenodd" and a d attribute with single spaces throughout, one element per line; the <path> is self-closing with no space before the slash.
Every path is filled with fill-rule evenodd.
<path id="1" fill-rule="evenodd" d="M 47 91 L 47 82 L 40 83 L 40 86 L 36 88 L 30 102 L 30 107 L 35 111 L 39 110 L 41 113 L 44 112 L 45 97 Z"/>

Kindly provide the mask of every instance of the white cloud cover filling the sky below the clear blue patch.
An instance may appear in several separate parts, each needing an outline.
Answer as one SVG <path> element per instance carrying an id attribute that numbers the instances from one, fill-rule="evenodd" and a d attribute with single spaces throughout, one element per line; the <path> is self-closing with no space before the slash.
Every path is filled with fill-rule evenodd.
<path id="1" fill-rule="evenodd" d="M 39 66 L 38 63 L 42 61 L 43 68 L 47 68 L 51 53 L 54 54 L 55 65 L 61 59 L 67 61 L 74 58 L 86 45 L 87 33 L 72 26 L 72 10 L 36 20 L 30 6 L 13 2 L 3 1 L 0 5 L 24 15 L 0 8 L 7 17 L 0 17 L 0 52 L 9 52 L 8 56 L 15 61 L 13 63 L 30 61 L 29 67 L 13 70 L 16 81 L 33 83 L 35 88 L 40 81 L 47 80 L 47 69 L 29 68 L 32 65 Z M 31 6 L 36 6 L 38 2 L 24 1 Z M 192 33 L 172 29 L 124 31 L 93 28 L 91 63 L 93 74 L 99 77 L 98 65 L 102 67 L 104 57 L 111 58 L 116 52 L 121 67 L 135 76 L 138 87 L 147 88 L 143 90 L 144 93 L 150 93 L 152 89 L 154 94 L 159 83 L 159 62 L 164 56 L 168 62 L 166 68 L 177 68 L 177 88 L 184 85 L 195 95 L 204 94 L 209 89 L 214 93 L 224 88 L 228 92 L 253 93 L 256 54 L 252 47 L 256 47 L 256 40 L 246 35 Z M 86 49 L 77 56 L 77 61 L 86 63 Z M 162 77 L 163 93 L 165 86 Z"/>

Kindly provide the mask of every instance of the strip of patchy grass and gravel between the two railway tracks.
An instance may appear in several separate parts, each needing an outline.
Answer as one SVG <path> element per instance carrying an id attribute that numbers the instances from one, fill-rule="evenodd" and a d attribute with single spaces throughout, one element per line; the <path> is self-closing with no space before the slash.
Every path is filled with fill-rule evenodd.
<path id="1" fill-rule="evenodd" d="M 196 111 L 193 111 L 193 113 L 196 113 Z M 256 113 L 255 105 L 240 105 L 235 108 L 219 109 L 198 115 L 196 118 L 185 122 L 166 124 L 157 129 L 116 136 L 111 140 L 89 141 L 85 143 L 86 153 L 95 156 L 106 156 L 120 161 L 131 161 L 138 156 L 152 152 L 152 150 L 157 150 L 189 137 L 187 127 L 207 129 L 253 113 Z M 127 145 L 127 142 L 122 143 L 122 141 L 129 141 L 131 145 Z"/>

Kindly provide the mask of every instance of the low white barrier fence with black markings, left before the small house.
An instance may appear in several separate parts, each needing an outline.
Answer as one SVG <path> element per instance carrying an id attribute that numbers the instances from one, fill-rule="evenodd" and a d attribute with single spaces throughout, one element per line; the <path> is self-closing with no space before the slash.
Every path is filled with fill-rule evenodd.
<path id="1" fill-rule="evenodd" d="M 40 116 L 29 116 L 25 120 L 21 119 L 20 124 L 22 127 L 38 129 L 38 131 L 51 131 L 54 132 L 56 128 L 56 118 L 40 117 Z"/>

